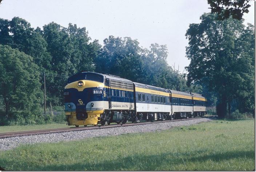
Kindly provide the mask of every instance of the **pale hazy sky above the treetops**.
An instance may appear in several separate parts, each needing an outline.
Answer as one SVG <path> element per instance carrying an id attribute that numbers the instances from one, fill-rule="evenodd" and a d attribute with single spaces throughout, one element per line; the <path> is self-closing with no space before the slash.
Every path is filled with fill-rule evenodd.
<path id="1" fill-rule="evenodd" d="M 250 4 L 244 18 L 254 24 L 254 1 Z M 137 39 L 144 48 L 166 44 L 168 64 L 183 71 L 189 65 L 185 32 L 208 8 L 207 0 L 3 0 L 0 18 L 21 17 L 34 28 L 52 21 L 67 27 L 71 22 L 86 27 L 102 45 L 109 35 Z"/>

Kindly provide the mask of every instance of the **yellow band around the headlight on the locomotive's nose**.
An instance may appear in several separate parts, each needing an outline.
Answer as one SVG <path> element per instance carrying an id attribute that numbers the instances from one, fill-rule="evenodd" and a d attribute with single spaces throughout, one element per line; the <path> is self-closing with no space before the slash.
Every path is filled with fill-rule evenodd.
<path id="1" fill-rule="evenodd" d="M 77 86 L 77 82 L 83 81 L 84 85 L 82 87 Z M 104 83 L 97 82 L 97 81 L 90 81 L 90 80 L 79 80 L 72 83 L 69 83 L 65 86 L 65 89 L 77 89 L 78 91 L 83 91 L 85 88 L 91 88 L 91 87 L 104 87 Z"/>

